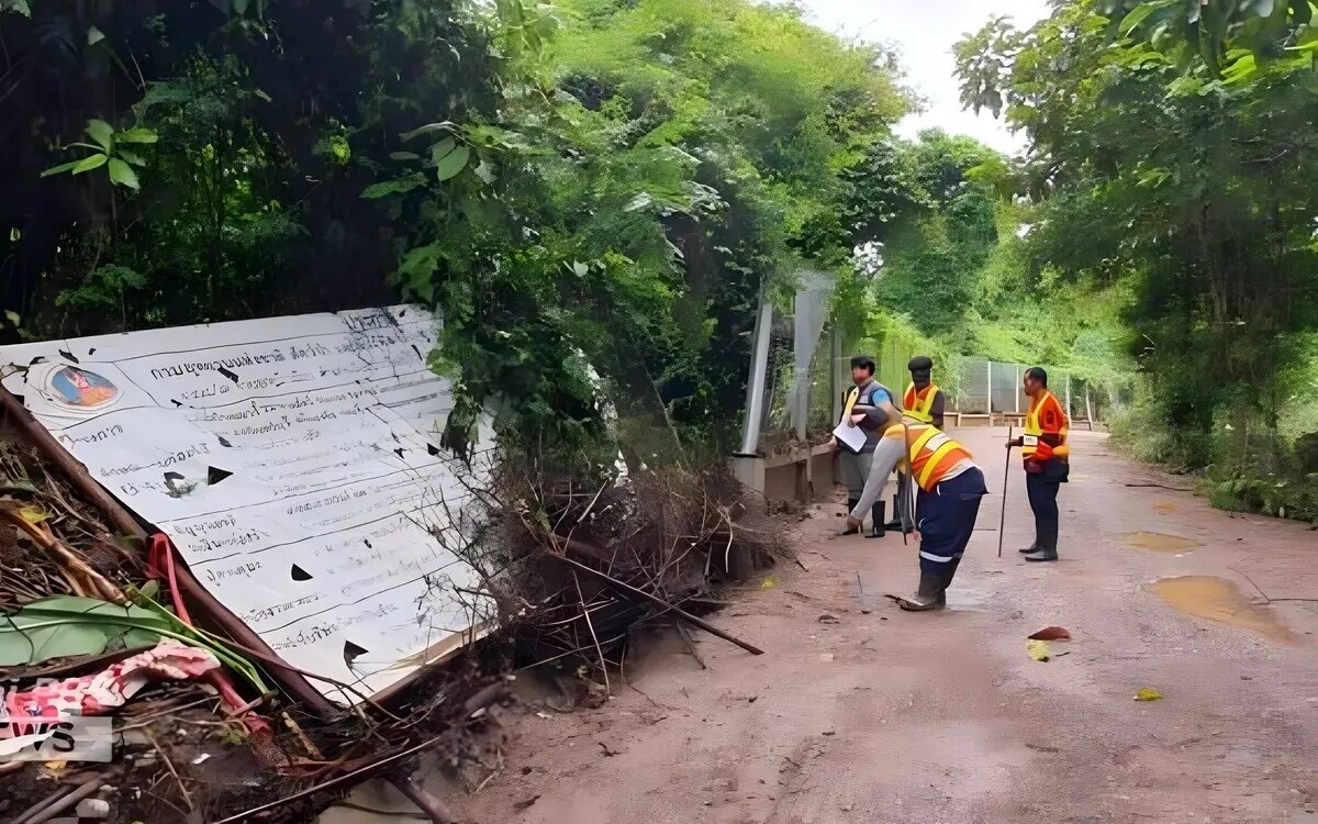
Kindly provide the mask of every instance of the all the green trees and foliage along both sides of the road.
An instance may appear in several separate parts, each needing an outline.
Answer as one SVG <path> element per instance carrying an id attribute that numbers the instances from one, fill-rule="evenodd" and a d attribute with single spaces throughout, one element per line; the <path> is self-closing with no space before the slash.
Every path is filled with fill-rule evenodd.
<path id="1" fill-rule="evenodd" d="M 639 461 L 728 444 L 753 306 L 822 269 L 849 340 L 1137 368 L 1141 455 L 1318 517 L 1307 3 L 991 21 L 958 74 L 1015 160 L 894 137 L 894 55 L 788 4 L 0 0 L 0 42 L 11 339 L 405 298 L 448 446 L 493 407 L 585 463 L 612 407 Z"/>

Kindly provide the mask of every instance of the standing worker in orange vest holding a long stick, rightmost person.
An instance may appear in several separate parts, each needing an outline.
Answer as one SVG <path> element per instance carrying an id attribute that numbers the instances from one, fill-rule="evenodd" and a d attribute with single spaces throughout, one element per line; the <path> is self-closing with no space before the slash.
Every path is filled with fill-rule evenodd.
<path id="1" fill-rule="evenodd" d="M 1023 548 L 1025 560 L 1057 560 L 1057 490 L 1070 477 L 1069 422 L 1061 401 L 1048 390 L 1048 373 L 1039 367 L 1025 370 L 1025 434 L 1007 444 L 1020 447 L 1025 459 L 1025 492 L 1035 513 L 1035 542 Z"/>

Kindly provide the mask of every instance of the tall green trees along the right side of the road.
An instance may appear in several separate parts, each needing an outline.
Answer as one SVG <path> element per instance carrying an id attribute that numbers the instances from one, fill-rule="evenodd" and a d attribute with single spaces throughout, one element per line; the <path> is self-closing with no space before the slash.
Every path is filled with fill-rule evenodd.
<path id="1" fill-rule="evenodd" d="M 1222 505 L 1315 518 L 1307 11 L 1072 0 L 957 49 L 966 102 L 1029 137 L 1032 268 L 1130 285 L 1145 378 L 1130 440 L 1210 469 Z"/>

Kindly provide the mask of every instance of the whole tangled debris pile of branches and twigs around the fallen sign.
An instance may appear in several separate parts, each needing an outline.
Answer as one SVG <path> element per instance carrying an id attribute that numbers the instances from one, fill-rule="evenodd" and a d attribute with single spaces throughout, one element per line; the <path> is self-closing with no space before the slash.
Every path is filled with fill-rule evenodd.
<path id="1" fill-rule="evenodd" d="M 699 616 L 718 606 L 710 585 L 784 552 L 762 502 L 747 505 L 721 469 L 583 485 L 505 463 L 463 550 L 484 581 L 471 595 L 498 604 L 497 625 L 387 701 L 310 707 L 279 690 L 289 664 L 235 639 L 181 585 L 188 574 L 167 542 L 148 554 L 141 525 L 105 512 L 76 464 L 34 447 L 20 414 L 11 407 L 0 432 L 0 679 L 8 742 L 46 738 L 32 759 L 0 763 L 7 821 L 306 821 L 373 777 L 432 820 L 459 820 L 411 770 L 427 751 L 453 766 L 501 757 L 484 709 L 507 700 L 511 672 L 567 664 L 580 676 L 565 700 L 594 703 L 637 628 L 722 634 Z M 61 751 L 71 738 L 49 719 L 72 707 L 112 724 L 108 758 L 82 759 L 91 738 L 74 741 L 76 758 Z"/>

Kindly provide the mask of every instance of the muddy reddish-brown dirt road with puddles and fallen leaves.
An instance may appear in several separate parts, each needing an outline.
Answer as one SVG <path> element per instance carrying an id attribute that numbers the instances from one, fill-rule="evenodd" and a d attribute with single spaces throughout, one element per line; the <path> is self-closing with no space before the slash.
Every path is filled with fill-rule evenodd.
<path id="1" fill-rule="evenodd" d="M 915 548 L 834 538 L 842 508 L 821 505 L 799 529 L 809 572 L 762 575 L 713 617 L 766 655 L 700 634 L 708 668 L 675 641 L 604 709 L 509 720 L 472 820 L 1318 820 L 1318 533 L 1126 486 L 1177 481 L 1079 432 L 1062 562 L 1016 554 L 1017 467 L 999 560 L 1004 432 L 961 436 L 992 494 L 952 610 L 899 612 L 882 595 L 915 585 Z M 1074 641 L 1041 663 L 1025 637 L 1046 625 Z"/>

